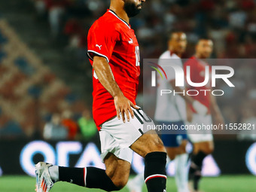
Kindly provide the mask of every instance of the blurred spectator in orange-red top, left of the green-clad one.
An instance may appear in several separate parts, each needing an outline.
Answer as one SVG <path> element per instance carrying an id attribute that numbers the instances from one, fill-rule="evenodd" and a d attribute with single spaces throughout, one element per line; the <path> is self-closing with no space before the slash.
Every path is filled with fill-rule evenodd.
<path id="1" fill-rule="evenodd" d="M 68 139 L 69 140 L 75 140 L 77 134 L 78 134 L 78 124 L 75 122 L 75 120 L 72 120 L 72 112 L 69 110 L 62 112 L 62 125 L 66 126 L 66 129 L 68 130 Z"/>

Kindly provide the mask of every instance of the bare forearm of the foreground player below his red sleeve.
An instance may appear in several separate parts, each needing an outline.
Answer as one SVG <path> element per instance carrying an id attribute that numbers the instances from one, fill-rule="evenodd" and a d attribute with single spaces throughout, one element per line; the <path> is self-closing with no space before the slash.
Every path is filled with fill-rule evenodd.
<path id="1" fill-rule="evenodd" d="M 123 95 L 122 91 L 117 85 L 117 82 L 114 80 L 114 75 L 111 71 L 111 67 L 109 66 L 106 59 L 102 56 L 94 56 L 93 57 L 93 69 L 96 72 L 96 75 L 99 79 L 99 82 L 108 90 L 108 93 L 111 96 L 119 96 Z"/>

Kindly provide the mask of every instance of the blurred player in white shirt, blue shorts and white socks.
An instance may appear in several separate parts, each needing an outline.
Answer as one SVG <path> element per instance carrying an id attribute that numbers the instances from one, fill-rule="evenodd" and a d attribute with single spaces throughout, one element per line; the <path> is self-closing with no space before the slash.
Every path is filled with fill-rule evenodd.
<path id="1" fill-rule="evenodd" d="M 178 66 L 181 69 L 182 53 L 186 50 L 187 37 L 184 32 L 172 32 L 169 37 L 168 47 L 159 59 L 158 64 L 166 72 L 166 77 L 161 78 L 157 74 L 157 106 L 155 111 L 155 120 L 158 125 L 178 126 L 179 130 L 163 130 L 161 139 L 166 148 L 170 160 L 175 160 L 175 182 L 178 192 L 188 192 L 187 185 L 187 158 L 186 130 L 181 130 L 181 126 L 187 120 L 186 102 L 197 108 L 201 114 L 206 114 L 206 107 L 197 102 L 192 97 L 182 94 L 158 94 L 160 90 L 173 90 L 181 93 L 185 87 L 175 86 L 175 71 L 170 66 Z M 127 184 L 131 192 L 141 192 L 143 184 L 143 175 L 139 174 L 136 178 L 130 180 Z"/>

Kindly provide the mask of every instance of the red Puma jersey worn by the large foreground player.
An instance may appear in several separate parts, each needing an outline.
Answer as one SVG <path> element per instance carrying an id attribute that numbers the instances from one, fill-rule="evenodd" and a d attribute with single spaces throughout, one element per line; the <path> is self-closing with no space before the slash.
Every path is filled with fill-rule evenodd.
<path id="1" fill-rule="evenodd" d="M 108 10 L 90 27 L 87 56 L 103 56 L 109 63 L 120 90 L 136 105 L 139 85 L 139 44 L 133 29 L 114 11 Z M 99 125 L 117 115 L 114 98 L 99 82 L 93 70 L 93 119 Z"/>

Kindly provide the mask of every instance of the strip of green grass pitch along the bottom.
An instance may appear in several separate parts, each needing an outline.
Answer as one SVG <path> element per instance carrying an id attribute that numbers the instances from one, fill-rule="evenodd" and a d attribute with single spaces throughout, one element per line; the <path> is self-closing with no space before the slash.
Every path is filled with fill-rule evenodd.
<path id="1" fill-rule="evenodd" d="M 223 175 L 217 178 L 203 178 L 200 184 L 205 192 L 254 192 L 256 191 L 256 177 L 253 175 Z M 0 177 L 1 192 L 29 192 L 35 191 L 35 178 L 29 176 L 2 176 Z M 99 192 L 103 190 L 87 189 L 59 182 L 54 184 L 50 192 Z M 128 192 L 124 187 L 122 192 Z M 147 191 L 145 186 L 143 192 Z M 167 191 L 177 191 L 174 178 L 168 178 Z"/>

